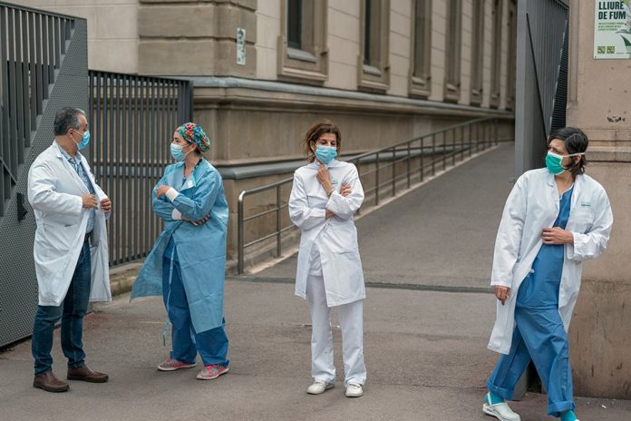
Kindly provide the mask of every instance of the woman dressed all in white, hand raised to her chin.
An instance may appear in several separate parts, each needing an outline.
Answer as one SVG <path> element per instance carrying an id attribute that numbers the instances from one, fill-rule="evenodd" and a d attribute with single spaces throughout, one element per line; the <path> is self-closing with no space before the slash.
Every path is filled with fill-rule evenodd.
<path id="1" fill-rule="evenodd" d="M 306 392 L 335 386 L 331 308 L 338 308 L 342 328 L 345 395 L 363 395 L 365 298 L 362 262 L 353 215 L 364 190 L 352 163 L 335 160 L 342 136 L 333 122 L 316 122 L 307 132 L 310 162 L 296 170 L 289 217 L 301 230 L 296 295 L 311 308 L 311 360 L 314 383 Z"/>

